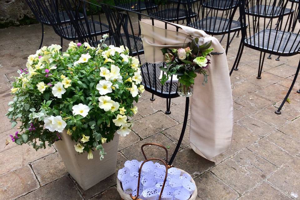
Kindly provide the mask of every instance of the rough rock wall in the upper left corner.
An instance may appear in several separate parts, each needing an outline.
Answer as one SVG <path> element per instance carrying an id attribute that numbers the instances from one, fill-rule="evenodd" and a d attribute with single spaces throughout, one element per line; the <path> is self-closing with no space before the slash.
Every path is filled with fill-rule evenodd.
<path id="1" fill-rule="evenodd" d="M 25 0 L 0 0 L 0 26 L 16 26 L 20 20 L 34 18 Z"/>

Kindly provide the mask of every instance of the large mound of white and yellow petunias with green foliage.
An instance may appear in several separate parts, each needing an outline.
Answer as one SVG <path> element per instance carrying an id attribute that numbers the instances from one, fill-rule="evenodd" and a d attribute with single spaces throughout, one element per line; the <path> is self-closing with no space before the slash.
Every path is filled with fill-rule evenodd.
<path id="1" fill-rule="evenodd" d="M 25 69 L 12 83 L 13 101 L 8 118 L 20 131 L 12 141 L 28 143 L 36 150 L 58 140 L 63 130 L 77 144 L 74 151 L 99 150 L 114 133 L 126 136 L 137 113 L 133 101 L 143 93 L 138 59 L 128 56 L 128 48 L 107 46 L 103 36 L 97 48 L 88 43 L 70 42 L 66 52 L 51 45 L 28 57 Z"/>

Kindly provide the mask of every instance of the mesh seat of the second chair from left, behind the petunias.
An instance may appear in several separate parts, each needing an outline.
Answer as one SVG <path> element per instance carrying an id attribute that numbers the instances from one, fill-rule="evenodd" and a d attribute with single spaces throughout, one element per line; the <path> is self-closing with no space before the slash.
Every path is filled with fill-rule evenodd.
<path id="1" fill-rule="evenodd" d="M 96 35 L 103 35 L 105 33 L 109 32 L 109 26 L 104 23 L 100 23 L 98 21 L 92 21 L 88 20 L 88 26 L 86 25 L 86 22 L 81 22 L 79 25 L 81 28 L 84 26 L 85 30 L 81 30 L 83 35 L 89 35 L 89 36 L 96 36 Z M 90 30 L 90 34 L 88 32 L 88 27 Z M 64 33 L 66 39 L 76 39 L 77 35 L 75 32 L 75 28 L 73 25 L 69 25 L 66 27 L 61 28 L 61 31 Z"/>

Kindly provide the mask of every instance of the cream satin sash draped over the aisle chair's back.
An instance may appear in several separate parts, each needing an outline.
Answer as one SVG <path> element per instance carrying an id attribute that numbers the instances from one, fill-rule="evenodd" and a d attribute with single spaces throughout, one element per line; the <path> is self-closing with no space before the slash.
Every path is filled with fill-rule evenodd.
<path id="1" fill-rule="evenodd" d="M 199 45 L 212 41 L 215 52 L 207 69 L 208 83 L 202 86 L 203 76 L 195 79 L 194 93 L 190 97 L 190 145 L 200 156 L 216 162 L 216 156 L 231 146 L 233 127 L 233 106 L 230 78 L 225 50 L 215 37 L 204 31 L 183 25 L 142 19 L 140 22 L 145 60 L 148 63 L 164 61 L 161 48 L 187 47 L 192 37 L 199 37 Z M 176 27 L 179 27 L 176 31 Z"/>

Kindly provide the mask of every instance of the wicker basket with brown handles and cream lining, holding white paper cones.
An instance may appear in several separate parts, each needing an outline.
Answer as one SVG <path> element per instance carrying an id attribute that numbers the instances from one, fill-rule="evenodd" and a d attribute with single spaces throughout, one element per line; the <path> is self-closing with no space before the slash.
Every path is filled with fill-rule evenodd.
<path id="1" fill-rule="evenodd" d="M 144 147 L 144 146 L 147 146 L 147 145 L 155 145 L 155 146 L 159 146 L 159 147 L 162 147 L 163 149 L 165 149 L 166 154 L 167 154 L 167 156 L 166 156 L 166 161 L 163 161 L 163 160 L 161 160 L 161 159 L 159 159 L 159 158 L 149 158 L 149 159 L 147 159 L 147 157 L 146 157 L 146 155 L 145 155 L 145 153 L 144 153 L 144 150 L 143 150 L 143 147 Z M 165 148 L 164 146 L 162 146 L 162 145 L 160 145 L 160 144 L 156 144 L 156 143 L 146 143 L 146 144 L 143 144 L 143 145 L 142 145 L 142 153 L 143 153 L 143 155 L 144 155 L 144 157 L 145 157 L 145 161 L 142 163 L 142 165 L 141 165 L 141 167 L 140 167 L 140 170 L 139 170 L 139 174 L 138 174 L 138 190 L 137 190 L 137 191 L 139 191 L 140 178 L 141 178 L 141 169 L 142 169 L 144 163 L 146 163 L 146 162 L 148 162 L 148 161 L 150 161 L 150 160 L 158 160 L 158 161 L 161 161 L 161 162 L 166 166 L 166 175 L 165 175 L 165 179 L 164 179 L 164 183 L 163 183 L 163 187 L 164 187 L 164 185 L 165 185 L 165 183 L 166 183 L 166 180 L 167 180 L 167 173 L 168 173 L 168 170 L 167 170 L 167 169 L 173 167 L 173 166 L 170 166 L 170 165 L 167 164 L 167 163 L 168 163 L 168 150 L 167 150 L 167 148 Z M 188 174 L 187 172 L 183 171 L 182 169 L 179 169 L 179 170 L 181 171 L 181 175 L 183 175 L 183 174 Z M 194 183 L 194 184 L 196 185 L 195 181 L 194 181 L 192 178 L 191 178 L 191 182 Z M 163 188 L 163 187 L 162 187 L 162 188 Z M 119 180 L 118 178 L 117 178 L 117 190 L 118 190 L 118 192 L 119 192 L 119 194 L 120 194 L 122 200 L 142 200 L 142 199 L 140 199 L 140 198 L 133 197 L 132 195 L 126 194 L 126 193 L 123 191 L 121 182 L 120 182 L 120 180 Z M 161 199 L 162 193 L 163 193 L 163 190 L 160 192 L 160 195 L 159 195 L 158 200 Z M 196 197 L 197 197 L 197 193 L 198 193 L 198 192 L 197 192 L 197 187 L 196 187 L 195 190 L 194 190 L 194 192 L 192 193 L 191 197 L 189 198 L 189 200 L 195 200 Z M 138 196 L 138 195 L 139 195 L 139 194 L 137 194 L 137 196 Z"/>

